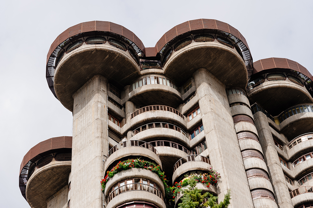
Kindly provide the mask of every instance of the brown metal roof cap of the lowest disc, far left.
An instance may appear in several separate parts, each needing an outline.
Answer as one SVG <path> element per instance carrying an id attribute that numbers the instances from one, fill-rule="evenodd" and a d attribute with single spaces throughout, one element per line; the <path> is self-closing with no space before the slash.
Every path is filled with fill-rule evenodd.
<path id="1" fill-rule="evenodd" d="M 72 137 L 63 136 L 63 137 L 53 137 L 47 140 L 44 140 L 35 146 L 33 146 L 23 157 L 23 161 L 20 167 L 20 173 L 22 172 L 23 167 L 34 157 L 38 156 L 40 153 L 47 152 L 53 149 L 60 148 L 72 148 Z"/>

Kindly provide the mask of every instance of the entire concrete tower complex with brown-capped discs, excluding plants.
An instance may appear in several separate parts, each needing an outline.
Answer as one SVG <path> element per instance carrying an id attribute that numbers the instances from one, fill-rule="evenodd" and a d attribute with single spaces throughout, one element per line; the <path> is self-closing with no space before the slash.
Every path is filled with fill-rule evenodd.
<path id="1" fill-rule="evenodd" d="M 153 172 L 131 168 L 100 181 L 119 161 L 160 165 L 172 185 L 198 184 L 229 207 L 313 207 L 313 77 L 283 58 L 253 63 L 242 34 L 212 19 L 184 22 L 146 48 L 103 21 L 69 27 L 52 43 L 49 88 L 73 112 L 73 137 L 25 155 L 19 185 L 32 208 L 177 207 Z M 148 189 L 146 187 L 149 187 Z"/>

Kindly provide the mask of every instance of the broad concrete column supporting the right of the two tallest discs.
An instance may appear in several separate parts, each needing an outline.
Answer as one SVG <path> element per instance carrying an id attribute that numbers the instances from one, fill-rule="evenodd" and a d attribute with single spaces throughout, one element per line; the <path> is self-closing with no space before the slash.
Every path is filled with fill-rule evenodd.
<path id="1" fill-rule="evenodd" d="M 226 87 L 206 69 L 193 78 L 199 96 L 202 123 L 212 167 L 221 174 L 218 201 L 231 188 L 230 207 L 253 207 L 244 163 L 231 116 Z"/>

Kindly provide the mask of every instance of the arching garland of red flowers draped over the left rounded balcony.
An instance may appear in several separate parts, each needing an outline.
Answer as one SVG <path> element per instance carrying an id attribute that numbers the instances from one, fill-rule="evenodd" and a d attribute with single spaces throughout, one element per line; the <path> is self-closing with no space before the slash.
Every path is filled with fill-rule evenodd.
<path id="1" fill-rule="evenodd" d="M 168 181 L 166 179 L 166 175 L 164 172 L 161 171 L 161 167 L 159 165 L 156 165 L 155 163 L 146 160 L 141 160 L 140 158 L 136 158 L 128 159 L 123 162 L 120 161 L 110 171 L 107 171 L 105 178 L 101 180 L 102 192 L 104 192 L 105 184 L 111 177 L 113 177 L 118 172 L 128 170 L 130 168 L 143 168 L 156 173 L 156 175 L 158 175 L 161 178 L 165 187 L 165 191 L 166 192 L 170 191 L 170 188 L 167 185 Z"/>

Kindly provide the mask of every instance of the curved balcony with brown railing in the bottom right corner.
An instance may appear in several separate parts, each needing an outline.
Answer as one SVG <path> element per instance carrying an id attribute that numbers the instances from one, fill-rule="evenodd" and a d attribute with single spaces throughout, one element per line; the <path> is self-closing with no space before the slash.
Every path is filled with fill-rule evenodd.
<path id="1" fill-rule="evenodd" d="M 290 197 L 294 206 L 310 203 L 313 201 L 313 186 L 302 186 L 290 191 Z"/>

